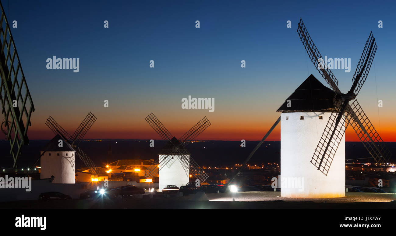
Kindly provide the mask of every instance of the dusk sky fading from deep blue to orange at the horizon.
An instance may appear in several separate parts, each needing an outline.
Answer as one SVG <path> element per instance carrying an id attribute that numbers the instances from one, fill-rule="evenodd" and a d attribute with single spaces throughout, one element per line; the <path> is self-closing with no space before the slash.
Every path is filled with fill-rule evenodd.
<path id="1" fill-rule="evenodd" d="M 325 84 L 297 35 L 302 17 L 322 56 L 351 58 L 350 73 L 333 70 L 343 92 L 373 31 L 378 49 L 358 101 L 384 140 L 396 141 L 395 10 L 394 2 L 371 1 L 10 1 L 36 108 L 29 136 L 53 136 L 44 125 L 49 115 L 72 133 L 92 111 L 98 120 L 86 138 L 156 139 L 144 121 L 153 112 L 175 136 L 207 116 L 212 126 L 202 139 L 259 140 L 308 75 Z M 54 55 L 80 58 L 80 72 L 47 70 Z M 215 98 L 215 112 L 181 109 L 188 95 Z"/>

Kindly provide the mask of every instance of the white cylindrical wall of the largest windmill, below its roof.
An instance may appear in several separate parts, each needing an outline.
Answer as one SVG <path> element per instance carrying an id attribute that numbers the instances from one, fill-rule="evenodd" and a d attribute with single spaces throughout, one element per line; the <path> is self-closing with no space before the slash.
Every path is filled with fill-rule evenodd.
<path id="1" fill-rule="evenodd" d="M 331 113 L 281 114 L 281 179 L 299 178 L 301 188 L 283 188 L 286 198 L 337 198 L 345 196 L 345 134 L 331 163 L 327 176 L 310 161 Z M 319 119 L 319 115 L 323 119 Z M 286 120 L 286 116 L 288 120 Z M 300 116 L 304 116 L 301 120 Z M 340 126 L 342 124 L 340 123 Z M 343 126 L 345 130 L 345 126 Z M 279 184 L 282 180 L 279 180 Z"/>

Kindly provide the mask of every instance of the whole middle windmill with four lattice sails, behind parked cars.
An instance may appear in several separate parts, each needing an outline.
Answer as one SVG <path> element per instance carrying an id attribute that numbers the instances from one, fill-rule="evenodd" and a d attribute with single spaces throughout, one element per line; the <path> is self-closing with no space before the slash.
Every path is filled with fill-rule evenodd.
<path id="1" fill-rule="evenodd" d="M 167 141 L 155 162 L 158 163 L 158 168 L 155 166 L 148 168 L 145 172 L 147 178 L 152 178 L 158 170 L 159 188 L 162 189 L 170 184 L 178 187 L 187 184 L 190 173 L 200 182 L 204 182 L 209 177 L 185 149 L 190 141 L 211 125 L 208 118 L 204 117 L 179 139 L 172 136 L 153 113 L 150 113 L 145 120 L 162 139 Z"/>

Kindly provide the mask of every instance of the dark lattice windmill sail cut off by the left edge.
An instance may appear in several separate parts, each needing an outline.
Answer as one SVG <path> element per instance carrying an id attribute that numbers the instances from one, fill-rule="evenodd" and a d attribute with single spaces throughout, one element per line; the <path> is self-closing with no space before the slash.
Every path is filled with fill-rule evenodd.
<path id="1" fill-rule="evenodd" d="M 34 106 L 1 2 L 0 7 L 0 103 L 4 115 L 0 122 L 1 130 L 10 142 L 13 168 L 17 168 L 22 146 L 29 145 L 27 130 Z"/>

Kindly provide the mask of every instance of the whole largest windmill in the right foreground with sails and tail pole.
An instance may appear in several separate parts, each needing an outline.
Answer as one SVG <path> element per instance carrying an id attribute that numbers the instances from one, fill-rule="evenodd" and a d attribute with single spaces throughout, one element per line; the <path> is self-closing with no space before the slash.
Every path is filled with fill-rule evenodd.
<path id="1" fill-rule="evenodd" d="M 279 183 L 282 188 L 281 196 L 290 198 L 342 197 L 345 196 L 344 134 L 348 125 L 354 129 L 376 163 L 387 163 L 392 155 L 355 99 L 367 79 L 377 44 L 373 34 L 370 33 L 352 78 L 352 86 L 346 94 L 343 94 L 331 70 L 326 65 L 318 66 L 322 55 L 312 42 L 302 19 L 298 24 L 297 33 L 312 63 L 331 89 L 326 88 L 312 75 L 308 77 L 278 109 L 281 112 L 280 117 L 228 183 L 234 180 L 282 120 L 281 178 L 290 182 L 294 181 L 295 184 L 303 181 L 304 188 L 294 186 L 287 190 L 287 188 L 282 188 L 281 179 Z M 349 103 L 351 100 L 354 101 Z M 287 106 L 288 104 L 290 106 Z M 314 141 L 316 145 L 312 144 Z M 341 163 L 343 164 L 342 170 Z M 342 180 L 337 173 L 343 176 Z"/>

